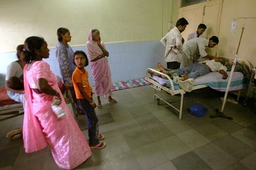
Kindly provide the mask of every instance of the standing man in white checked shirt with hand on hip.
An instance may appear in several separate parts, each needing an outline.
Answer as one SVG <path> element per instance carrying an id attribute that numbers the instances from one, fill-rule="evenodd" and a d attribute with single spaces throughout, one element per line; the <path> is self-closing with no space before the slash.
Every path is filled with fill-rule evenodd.
<path id="1" fill-rule="evenodd" d="M 167 68 L 177 69 L 180 67 L 182 59 L 182 36 L 181 32 L 187 27 L 187 20 L 180 18 L 176 22 L 176 27 L 172 28 L 160 42 L 165 46 L 165 61 L 167 62 Z"/>

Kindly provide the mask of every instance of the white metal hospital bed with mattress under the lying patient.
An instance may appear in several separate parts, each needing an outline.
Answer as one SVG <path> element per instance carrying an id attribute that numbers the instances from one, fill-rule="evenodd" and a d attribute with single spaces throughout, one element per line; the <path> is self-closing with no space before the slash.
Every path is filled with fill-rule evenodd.
<path id="1" fill-rule="evenodd" d="M 233 64 L 232 61 L 234 59 L 227 58 L 227 57 L 224 57 L 224 58 L 226 61 L 225 66 L 228 67 L 227 73 L 229 78 L 231 73 L 230 70 Z M 238 100 L 240 96 L 240 90 L 248 87 L 252 65 L 244 59 L 237 59 L 236 67 L 237 68 L 235 69 L 235 72 L 233 73 L 233 76 L 232 76 L 229 91 L 238 90 L 238 93 L 237 93 L 237 100 Z M 159 75 L 159 76 L 156 76 L 156 75 Z M 166 79 L 160 78 L 161 75 L 165 76 Z M 222 75 L 220 73 L 210 72 L 204 76 L 200 76 L 194 79 L 194 85 L 193 85 L 192 91 L 200 88 L 205 88 L 205 87 L 210 87 L 217 91 L 226 91 L 226 87 L 228 85 L 228 78 L 222 79 Z M 168 75 L 152 68 L 148 68 L 146 70 L 145 79 L 147 79 L 149 82 L 153 84 L 152 86 L 153 99 L 157 100 L 158 104 L 159 104 L 159 101 L 162 100 L 165 103 L 167 103 L 169 106 L 177 110 L 179 112 L 179 119 L 181 119 L 183 97 L 184 97 L 184 94 L 186 94 L 186 91 L 181 89 L 179 85 L 176 84 Z M 160 95 L 156 93 L 157 91 L 166 91 L 172 96 L 174 96 L 175 94 L 180 94 L 181 99 L 180 99 L 179 108 L 175 107 L 172 103 L 169 103 L 168 101 L 160 97 Z"/>

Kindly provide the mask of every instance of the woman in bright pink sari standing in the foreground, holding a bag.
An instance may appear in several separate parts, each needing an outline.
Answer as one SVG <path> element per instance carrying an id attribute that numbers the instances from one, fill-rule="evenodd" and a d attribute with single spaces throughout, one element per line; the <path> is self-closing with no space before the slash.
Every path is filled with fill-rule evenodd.
<path id="1" fill-rule="evenodd" d="M 43 38 L 31 36 L 25 40 L 24 51 L 25 152 L 49 145 L 56 164 L 63 169 L 73 169 L 91 156 L 91 149 L 63 99 L 56 76 L 49 64 L 42 61 L 49 58 L 50 50 Z M 53 112 L 53 100 L 60 100 L 59 106 L 66 112 L 64 117 L 57 118 Z"/>

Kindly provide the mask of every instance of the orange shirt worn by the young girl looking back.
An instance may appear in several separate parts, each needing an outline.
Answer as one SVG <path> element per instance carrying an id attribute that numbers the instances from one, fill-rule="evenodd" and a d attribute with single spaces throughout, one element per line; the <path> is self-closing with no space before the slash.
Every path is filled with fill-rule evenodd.
<path id="1" fill-rule="evenodd" d="M 78 69 L 78 67 L 76 67 L 74 72 L 72 73 L 72 82 L 74 85 L 75 96 L 77 99 L 84 99 L 84 96 L 80 93 L 77 83 L 82 83 L 87 96 L 92 97 L 92 88 L 88 81 L 88 72 L 85 69 L 83 73 L 80 69 Z"/>

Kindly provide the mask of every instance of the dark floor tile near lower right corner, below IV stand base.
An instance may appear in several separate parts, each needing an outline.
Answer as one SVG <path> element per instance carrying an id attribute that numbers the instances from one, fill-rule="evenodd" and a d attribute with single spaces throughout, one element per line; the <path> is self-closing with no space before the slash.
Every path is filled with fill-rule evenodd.
<path id="1" fill-rule="evenodd" d="M 254 152 L 250 146 L 231 135 L 215 140 L 213 143 L 223 151 L 228 152 L 232 157 L 237 158 L 237 160 L 245 158 Z"/>

